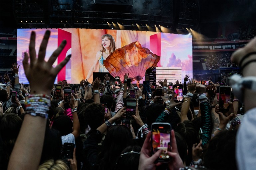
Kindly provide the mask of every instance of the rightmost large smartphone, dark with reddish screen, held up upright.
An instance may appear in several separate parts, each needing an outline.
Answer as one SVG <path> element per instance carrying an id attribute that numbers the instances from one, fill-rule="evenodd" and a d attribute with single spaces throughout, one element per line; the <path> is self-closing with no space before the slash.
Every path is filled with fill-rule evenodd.
<path id="1" fill-rule="evenodd" d="M 230 101 L 231 87 L 219 87 L 219 111 L 227 112 L 229 110 L 228 101 Z"/>

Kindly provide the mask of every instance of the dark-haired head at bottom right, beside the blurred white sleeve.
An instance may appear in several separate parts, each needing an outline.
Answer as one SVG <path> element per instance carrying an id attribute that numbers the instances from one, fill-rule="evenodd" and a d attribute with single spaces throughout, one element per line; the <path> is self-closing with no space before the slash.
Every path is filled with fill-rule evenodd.
<path id="1" fill-rule="evenodd" d="M 237 131 L 221 131 L 208 143 L 203 165 L 210 170 L 236 170 L 235 145 Z"/>

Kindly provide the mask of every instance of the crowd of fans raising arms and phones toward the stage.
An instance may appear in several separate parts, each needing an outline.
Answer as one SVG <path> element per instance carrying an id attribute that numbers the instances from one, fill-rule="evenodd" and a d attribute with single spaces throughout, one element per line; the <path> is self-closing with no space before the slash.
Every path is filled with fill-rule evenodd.
<path id="1" fill-rule="evenodd" d="M 189 80 L 187 75 L 183 82 L 184 102 L 181 103 L 175 101 L 180 92 L 178 95 L 169 88 L 166 80 L 159 81 L 158 88 L 162 92 L 156 95 L 159 90 L 149 84 L 149 74 L 154 70 L 150 67 L 145 72 L 143 86 L 135 88 L 137 104 L 131 114 L 128 101 L 134 87 L 126 81 L 119 82 L 119 88 L 112 88 L 107 75 L 105 80 L 81 80 L 70 93 L 64 93 L 64 89 L 72 89 L 67 82 L 59 81 L 54 85 L 57 74 L 71 55 L 52 67 L 66 44 L 64 40 L 46 62 L 49 36 L 48 30 L 36 57 L 35 32 L 31 34 L 30 53 L 25 54 L 23 61 L 30 84 L 19 82 L 19 66 L 14 63 L 11 69 L 14 82 L 11 83 L 5 74 L 6 84 L 0 86 L 1 170 L 189 169 L 186 166 L 208 170 L 238 169 L 235 146 L 242 121 L 237 117 L 242 113 L 241 101 L 231 94 L 227 102 L 229 109 L 219 111 L 216 91 L 219 84 L 210 81 L 208 86 L 201 85 Z M 129 74 L 125 74 L 124 79 L 128 78 Z M 181 83 L 175 82 L 178 86 Z M 171 134 L 167 150 L 162 150 L 160 142 L 165 137 L 152 141 L 154 122 L 171 125 L 172 131 L 167 130 Z M 159 132 L 154 133 L 161 136 Z M 159 147 L 155 153 L 152 143 Z M 65 159 L 67 146 L 74 149 L 71 149 L 72 156 Z M 163 155 L 171 160 L 156 162 L 164 160 Z M 240 170 L 245 163 L 240 162 Z"/>

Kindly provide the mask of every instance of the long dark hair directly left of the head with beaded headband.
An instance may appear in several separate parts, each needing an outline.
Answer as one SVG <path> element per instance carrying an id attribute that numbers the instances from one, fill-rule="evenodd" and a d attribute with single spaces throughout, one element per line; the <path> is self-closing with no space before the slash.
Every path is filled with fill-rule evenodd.
<path id="1" fill-rule="evenodd" d="M 107 132 L 98 156 L 99 169 L 114 169 L 118 156 L 131 144 L 132 134 L 127 126 L 112 126 Z"/>

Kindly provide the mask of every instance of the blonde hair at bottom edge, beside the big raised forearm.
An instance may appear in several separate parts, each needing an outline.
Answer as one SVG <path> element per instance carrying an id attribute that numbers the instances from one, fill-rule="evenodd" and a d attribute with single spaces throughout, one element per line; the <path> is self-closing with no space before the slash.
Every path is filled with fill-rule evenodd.
<path id="1" fill-rule="evenodd" d="M 55 162 L 53 159 L 49 159 L 43 164 L 39 165 L 38 170 L 69 170 L 69 167 L 61 159 L 58 159 Z"/>

